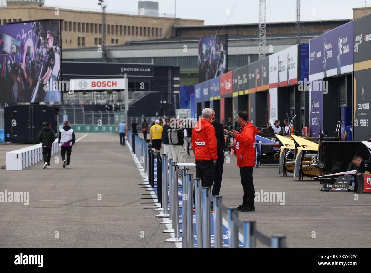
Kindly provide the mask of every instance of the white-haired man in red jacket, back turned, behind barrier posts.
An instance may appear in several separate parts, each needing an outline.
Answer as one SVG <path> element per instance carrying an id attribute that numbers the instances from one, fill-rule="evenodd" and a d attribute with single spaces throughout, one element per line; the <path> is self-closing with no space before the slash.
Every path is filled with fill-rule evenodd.
<path id="1" fill-rule="evenodd" d="M 217 143 L 215 128 L 211 124 L 213 111 L 210 108 L 202 110 L 202 118 L 197 121 L 192 130 L 192 149 L 196 160 L 196 178 L 201 178 L 203 187 L 213 186 Z M 195 208 L 193 208 L 195 209 Z M 213 211 L 213 208 L 211 208 Z"/>

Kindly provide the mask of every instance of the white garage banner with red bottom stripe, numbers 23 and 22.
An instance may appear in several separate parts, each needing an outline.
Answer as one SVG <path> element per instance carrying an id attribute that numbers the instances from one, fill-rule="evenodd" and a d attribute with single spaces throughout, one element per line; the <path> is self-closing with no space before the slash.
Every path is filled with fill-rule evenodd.
<path id="1" fill-rule="evenodd" d="M 297 83 L 298 45 L 269 55 L 269 88 L 284 87 Z"/>

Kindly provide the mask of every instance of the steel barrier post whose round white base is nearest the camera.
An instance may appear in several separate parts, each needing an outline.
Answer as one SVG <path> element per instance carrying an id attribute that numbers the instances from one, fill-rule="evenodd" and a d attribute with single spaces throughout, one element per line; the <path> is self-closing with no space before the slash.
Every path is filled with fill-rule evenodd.
<path id="1" fill-rule="evenodd" d="M 178 175 L 177 175 L 177 163 L 173 162 L 171 168 L 173 169 L 173 194 L 169 197 L 173 199 L 173 231 L 174 237 L 164 240 L 164 242 L 181 243 L 182 238 L 180 237 L 179 230 L 179 195 L 178 195 Z M 170 181 L 169 181 L 170 183 Z"/>

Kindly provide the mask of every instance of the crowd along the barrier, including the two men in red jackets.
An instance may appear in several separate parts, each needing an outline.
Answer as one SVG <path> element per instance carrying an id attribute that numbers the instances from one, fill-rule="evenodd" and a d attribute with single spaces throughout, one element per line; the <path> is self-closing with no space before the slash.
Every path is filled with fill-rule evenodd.
<path id="1" fill-rule="evenodd" d="M 124 123 L 124 121 L 123 121 Z M 257 128 L 248 120 L 247 111 L 239 111 L 237 119 L 216 120 L 216 113 L 211 108 L 204 108 L 197 122 L 186 123 L 173 121 L 171 118 L 153 120 L 151 126 L 143 120 L 141 130 L 144 139 L 149 138 L 152 150 L 164 154 L 173 162 L 184 163 L 192 153 L 196 163 L 196 178 L 200 178 L 203 187 L 210 187 L 213 195 L 219 195 L 223 178 L 224 154 L 232 150 L 236 153 L 237 167 L 240 169 L 243 186 L 243 201 L 238 206 L 240 211 L 255 211 L 253 166 L 255 165 L 255 134 Z M 125 128 L 126 124 L 121 127 Z M 234 130 L 239 128 L 239 130 Z M 118 128 L 119 130 L 119 128 Z M 138 133 L 138 124 L 131 123 L 132 133 Z M 194 206 L 194 211 L 196 207 Z M 211 212 L 213 203 L 211 202 Z"/>

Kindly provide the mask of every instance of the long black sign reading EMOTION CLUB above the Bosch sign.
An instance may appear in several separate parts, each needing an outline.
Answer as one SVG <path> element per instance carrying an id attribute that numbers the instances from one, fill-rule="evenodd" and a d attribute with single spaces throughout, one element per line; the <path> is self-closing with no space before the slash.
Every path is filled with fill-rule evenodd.
<path id="1" fill-rule="evenodd" d="M 82 78 L 99 76 L 153 77 L 152 64 L 123 64 L 107 62 L 62 62 L 63 77 Z"/>

